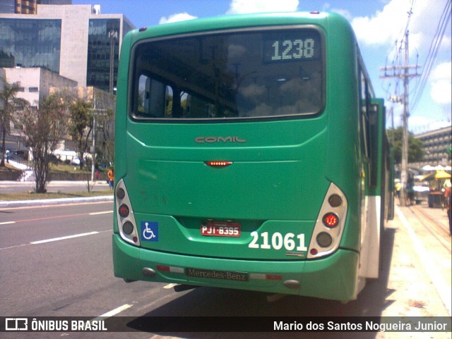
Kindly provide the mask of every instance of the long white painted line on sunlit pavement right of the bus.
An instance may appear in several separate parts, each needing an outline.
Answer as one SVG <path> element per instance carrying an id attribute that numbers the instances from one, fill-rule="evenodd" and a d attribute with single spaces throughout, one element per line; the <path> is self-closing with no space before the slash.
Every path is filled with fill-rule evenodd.
<path id="1" fill-rule="evenodd" d="M 410 223 L 408 223 L 408 220 L 405 218 L 403 212 L 398 206 L 396 206 L 396 214 L 400 218 L 400 221 L 402 221 L 403 226 L 405 226 L 408 230 L 412 245 L 416 249 L 415 252 L 417 253 L 417 257 L 419 257 L 420 262 L 422 266 L 424 266 L 424 270 L 429 275 L 430 281 L 432 281 L 434 287 L 436 288 L 436 292 L 441 298 L 444 307 L 446 307 L 449 316 L 451 316 L 451 286 L 448 286 L 444 279 L 439 275 L 439 269 L 436 267 L 434 261 L 430 259 L 427 251 L 425 250 L 424 244 L 422 244 L 422 241 L 417 237 L 415 231 L 411 228 Z"/>

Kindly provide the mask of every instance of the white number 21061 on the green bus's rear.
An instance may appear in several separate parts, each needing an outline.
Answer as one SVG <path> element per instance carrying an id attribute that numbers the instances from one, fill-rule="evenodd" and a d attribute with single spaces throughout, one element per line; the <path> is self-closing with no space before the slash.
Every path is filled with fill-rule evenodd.
<path id="1" fill-rule="evenodd" d="M 261 249 L 282 249 L 283 247 L 287 251 L 307 251 L 307 247 L 304 245 L 304 234 L 295 235 L 294 233 L 287 233 L 282 235 L 279 232 L 275 232 L 271 235 L 268 232 L 263 232 L 259 235 L 256 231 L 251 233 L 253 240 L 249 243 L 249 248 L 261 248 Z M 261 241 L 259 241 L 261 240 Z"/>

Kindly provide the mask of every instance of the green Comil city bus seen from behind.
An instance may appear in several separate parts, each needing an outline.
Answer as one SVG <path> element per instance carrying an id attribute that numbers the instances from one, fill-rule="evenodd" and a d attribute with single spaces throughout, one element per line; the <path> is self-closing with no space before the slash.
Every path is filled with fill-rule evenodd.
<path id="1" fill-rule="evenodd" d="M 121 47 L 114 275 L 354 300 L 391 203 L 383 101 L 335 13 L 144 27 Z"/>

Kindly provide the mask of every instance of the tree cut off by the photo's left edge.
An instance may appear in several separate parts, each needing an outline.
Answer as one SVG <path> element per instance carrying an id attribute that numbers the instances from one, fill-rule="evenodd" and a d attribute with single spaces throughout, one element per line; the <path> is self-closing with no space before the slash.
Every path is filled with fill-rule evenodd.
<path id="1" fill-rule="evenodd" d="M 9 84 L 6 80 L 2 80 L 2 82 L 4 82 L 4 88 L 0 91 L 0 101 L 4 102 L 4 109 L 0 110 L 0 127 L 2 135 L 0 166 L 5 166 L 6 133 L 9 130 L 9 122 L 11 121 L 11 116 L 15 110 L 15 99 L 20 88 L 20 83 L 13 82 L 13 84 Z"/>

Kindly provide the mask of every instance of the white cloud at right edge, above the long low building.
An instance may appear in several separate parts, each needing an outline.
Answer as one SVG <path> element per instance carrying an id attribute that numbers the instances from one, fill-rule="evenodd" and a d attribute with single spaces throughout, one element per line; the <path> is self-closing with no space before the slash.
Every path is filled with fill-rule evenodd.
<path id="1" fill-rule="evenodd" d="M 436 66 L 430 75 L 432 81 L 430 96 L 439 104 L 451 104 L 451 73 L 452 63 L 446 62 Z"/>

